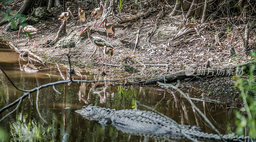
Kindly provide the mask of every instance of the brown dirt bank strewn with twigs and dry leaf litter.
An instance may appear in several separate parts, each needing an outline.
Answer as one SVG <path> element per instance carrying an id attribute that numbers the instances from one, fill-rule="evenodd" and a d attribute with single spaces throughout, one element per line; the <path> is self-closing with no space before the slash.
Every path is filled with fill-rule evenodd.
<path id="1" fill-rule="evenodd" d="M 18 11 L 21 4 L 22 1 L 18 0 L 12 3 L 12 5 L 3 5 L 0 12 L 1 14 L 5 13 L 6 9 L 10 6 L 12 6 L 12 9 Z M 74 33 L 74 35 L 77 36 L 77 33 L 81 32 L 80 21 L 78 20 L 78 3 L 76 3 L 76 1 L 70 1 L 66 6 L 71 9 L 73 16 L 75 17 L 74 19 L 72 19 L 72 17 L 68 19 L 67 36 Z M 90 4 L 87 8 L 87 15 L 89 15 L 95 7 L 97 6 Z M 36 35 L 36 44 L 38 47 L 41 44 L 46 43 L 47 40 L 53 40 L 59 30 L 61 21 L 58 20 L 58 18 L 62 9 L 52 8 L 51 11 L 53 12 L 53 17 L 51 19 L 41 20 L 39 23 L 32 25 L 39 29 L 39 33 Z M 156 12 L 151 13 L 142 21 L 118 24 L 118 21 L 120 20 L 128 19 L 132 16 L 138 16 L 146 13 L 147 11 Z M 160 7 L 158 9 L 145 9 L 142 11 L 136 11 L 130 9 L 130 7 L 124 7 L 121 11 L 121 15 L 120 13 L 116 14 L 114 19 L 108 17 L 108 22 L 113 23 L 116 28 L 116 32 L 113 37 L 115 50 L 114 56 L 112 57 L 112 64 L 120 66 L 112 67 L 111 76 L 109 77 L 117 77 L 116 74 L 118 74 L 119 77 L 132 76 L 146 79 L 184 71 L 186 66 L 190 66 L 194 69 L 203 68 L 207 60 L 210 61 L 211 67 L 219 67 L 244 63 L 251 58 L 249 53 L 246 55 L 243 52 L 243 41 L 238 37 L 239 33 L 236 32 L 239 26 L 226 28 L 223 25 L 226 24 L 227 20 L 221 18 L 213 19 L 208 21 L 208 23 L 205 23 L 206 28 L 201 35 L 201 37 L 203 37 L 201 40 L 195 40 L 178 46 L 170 45 L 169 40 L 177 34 L 181 26 L 182 16 L 169 16 L 171 8 L 168 5 L 164 5 L 164 12 L 160 15 L 157 21 L 156 32 L 149 39 L 149 47 L 148 33 L 151 33 L 154 30 L 156 19 L 160 12 Z M 102 17 L 99 17 L 97 20 L 98 24 L 100 24 L 102 19 Z M 89 18 L 86 26 L 96 30 L 96 26 L 92 27 L 93 20 L 94 19 L 92 17 Z M 189 19 L 188 23 L 198 24 L 199 20 L 192 18 Z M 0 26 L 1 39 L 4 39 L 5 41 L 12 41 L 19 49 L 27 49 L 27 36 L 21 33 L 21 37 L 18 39 L 18 31 L 4 31 L 7 24 L 8 23 Z M 83 26 L 83 29 L 84 27 L 85 26 Z M 136 34 L 137 32 L 140 33 Z M 221 47 L 214 46 L 214 34 L 219 32 L 227 33 L 227 36 L 221 40 Z M 251 36 L 252 33 L 249 35 L 250 42 L 253 40 L 253 37 Z M 103 29 L 103 26 L 100 27 L 99 32 L 95 31 L 92 33 L 92 36 L 99 36 L 107 40 L 107 34 Z M 136 49 L 132 51 L 137 36 L 138 44 Z M 33 39 L 31 40 L 31 43 L 33 43 Z M 92 56 L 92 59 L 89 58 L 92 55 L 95 46 L 91 43 L 88 37 L 84 36 L 84 38 L 79 39 L 76 43 L 76 46 L 66 48 L 55 46 L 47 48 L 31 47 L 31 50 L 44 60 L 57 64 L 68 64 L 66 53 L 70 52 L 71 62 L 73 65 L 95 73 L 102 71 L 104 69 L 104 65 L 93 64 L 97 61 L 98 51 Z M 236 51 L 235 57 L 230 57 L 230 46 Z M 125 59 L 125 56 L 128 56 L 131 51 L 132 53 L 130 57 L 132 58 L 128 59 L 128 63 L 132 64 L 130 64 L 131 66 L 126 66 L 125 64 L 127 64 L 127 60 Z M 168 67 L 134 66 L 138 64 L 168 64 Z M 233 86 L 232 81 L 230 86 Z"/>

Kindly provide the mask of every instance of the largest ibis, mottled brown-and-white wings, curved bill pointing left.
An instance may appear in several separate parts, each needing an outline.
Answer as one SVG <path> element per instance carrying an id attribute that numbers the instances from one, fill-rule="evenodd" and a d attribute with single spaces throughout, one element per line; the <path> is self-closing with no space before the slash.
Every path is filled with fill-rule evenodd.
<path id="1" fill-rule="evenodd" d="M 84 30 L 81 32 L 81 34 L 83 34 L 85 31 L 87 31 L 88 37 L 89 37 L 89 39 L 91 40 L 91 42 L 92 42 L 95 46 L 97 46 L 98 49 L 99 49 L 99 56 L 98 56 L 98 60 L 97 60 L 97 62 L 96 62 L 96 63 L 98 63 L 98 62 L 99 62 L 99 57 L 100 57 L 100 50 L 101 50 L 101 52 L 102 52 L 102 48 L 104 47 L 104 45 L 106 45 L 108 48 L 112 48 L 112 49 L 114 49 L 114 46 L 111 45 L 110 43 L 108 43 L 108 41 L 105 41 L 104 39 L 102 39 L 102 38 L 100 38 L 100 37 L 91 36 L 91 30 L 90 30 L 89 27 L 84 28 Z M 79 34 L 79 36 L 80 36 L 81 34 Z M 79 36 L 77 37 L 77 40 L 78 40 Z M 102 59 L 103 59 L 103 62 L 104 62 L 103 52 L 102 52 Z M 102 63 L 103 63 L 103 62 L 102 62 Z M 95 63 L 95 64 L 96 64 L 96 63 Z"/>

